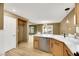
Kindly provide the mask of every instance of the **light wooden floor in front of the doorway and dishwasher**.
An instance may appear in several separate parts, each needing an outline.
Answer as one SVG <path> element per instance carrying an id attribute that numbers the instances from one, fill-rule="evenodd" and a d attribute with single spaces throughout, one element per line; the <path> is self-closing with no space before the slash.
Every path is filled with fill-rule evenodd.
<path id="1" fill-rule="evenodd" d="M 18 48 L 11 49 L 5 53 L 6 56 L 52 56 L 50 53 L 46 53 L 33 48 L 33 44 L 22 42 Z"/>

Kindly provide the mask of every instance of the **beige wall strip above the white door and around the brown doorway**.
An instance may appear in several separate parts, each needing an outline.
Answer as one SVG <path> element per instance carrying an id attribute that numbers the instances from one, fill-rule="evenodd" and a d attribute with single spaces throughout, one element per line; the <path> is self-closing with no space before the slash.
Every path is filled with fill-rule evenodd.
<path id="1" fill-rule="evenodd" d="M 29 26 L 29 21 L 28 21 L 28 19 L 27 18 L 24 18 L 24 17 L 21 17 L 21 16 L 18 16 L 18 15 L 16 15 L 16 14 L 13 14 L 13 13 L 11 13 L 11 12 L 9 12 L 9 11 L 5 11 L 6 12 L 6 15 L 7 16 L 10 16 L 10 17 L 13 17 L 13 18 L 16 18 L 17 20 L 18 19 L 21 19 L 21 20 L 23 20 L 23 21 L 26 21 L 26 25 L 25 25 L 25 29 L 26 29 L 26 31 L 25 31 L 25 36 L 26 36 L 26 40 L 25 41 L 27 41 L 27 39 L 29 39 L 29 34 L 28 34 L 28 32 L 29 32 L 29 29 L 27 29 L 28 28 L 28 26 Z M 17 22 L 17 25 L 18 25 L 18 21 L 16 21 Z M 18 26 L 16 26 L 16 28 L 17 28 L 17 30 L 16 30 L 16 43 L 17 43 L 17 47 L 18 47 Z"/>

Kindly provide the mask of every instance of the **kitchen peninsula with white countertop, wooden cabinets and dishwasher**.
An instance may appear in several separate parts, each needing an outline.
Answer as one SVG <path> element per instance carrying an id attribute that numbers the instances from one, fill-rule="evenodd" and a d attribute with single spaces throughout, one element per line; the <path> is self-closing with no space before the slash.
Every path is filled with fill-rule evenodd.
<path id="1" fill-rule="evenodd" d="M 79 52 L 79 40 L 62 35 L 39 34 L 34 36 L 34 48 L 54 56 L 73 56 Z"/>

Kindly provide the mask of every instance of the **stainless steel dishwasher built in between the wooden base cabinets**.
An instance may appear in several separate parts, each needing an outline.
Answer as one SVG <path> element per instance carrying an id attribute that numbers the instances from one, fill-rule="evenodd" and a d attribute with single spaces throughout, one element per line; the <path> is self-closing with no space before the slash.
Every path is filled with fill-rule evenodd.
<path id="1" fill-rule="evenodd" d="M 40 37 L 40 50 L 49 52 L 49 46 L 48 46 L 48 38 Z"/>

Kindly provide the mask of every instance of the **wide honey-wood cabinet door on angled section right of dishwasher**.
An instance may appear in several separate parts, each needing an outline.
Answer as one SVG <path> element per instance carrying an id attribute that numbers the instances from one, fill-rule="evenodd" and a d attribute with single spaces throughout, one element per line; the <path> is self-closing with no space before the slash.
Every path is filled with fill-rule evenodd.
<path id="1" fill-rule="evenodd" d="M 52 53 L 55 56 L 63 56 L 63 43 L 54 41 Z"/>

